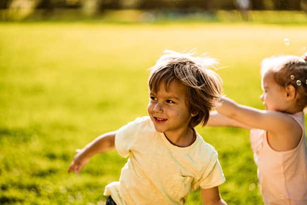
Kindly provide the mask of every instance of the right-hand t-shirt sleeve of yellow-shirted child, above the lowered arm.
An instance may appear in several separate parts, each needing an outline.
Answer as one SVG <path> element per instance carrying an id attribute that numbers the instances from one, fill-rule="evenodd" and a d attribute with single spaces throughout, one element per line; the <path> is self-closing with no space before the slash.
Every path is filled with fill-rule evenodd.
<path id="1" fill-rule="evenodd" d="M 212 188 L 225 182 L 222 167 L 218 160 L 218 154 L 214 151 L 211 155 L 210 162 L 199 181 L 201 188 Z"/>

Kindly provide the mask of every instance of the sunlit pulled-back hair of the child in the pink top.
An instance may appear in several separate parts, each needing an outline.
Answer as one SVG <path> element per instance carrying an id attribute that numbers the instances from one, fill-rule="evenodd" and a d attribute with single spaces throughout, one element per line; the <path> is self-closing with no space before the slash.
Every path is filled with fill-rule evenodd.
<path id="1" fill-rule="evenodd" d="M 286 87 L 293 85 L 296 94 L 296 106 L 304 109 L 307 106 L 307 62 L 306 57 L 293 55 L 273 56 L 261 62 L 261 76 L 270 72 L 277 84 Z"/>

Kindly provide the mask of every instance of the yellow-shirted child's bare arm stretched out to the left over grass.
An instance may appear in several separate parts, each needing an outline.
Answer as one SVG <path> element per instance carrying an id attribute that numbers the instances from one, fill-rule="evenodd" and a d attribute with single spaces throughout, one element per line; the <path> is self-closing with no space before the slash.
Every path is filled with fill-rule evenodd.
<path id="1" fill-rule="evenodd" d="M 103 134 L 87 144 L 83 149 L 77 149 L 77 154 L 69 165 L 68 173 L 72 170 L 75 173 L 79 173 L 93 155 L 115 149 L 115 135 L 116 131 Z"/>

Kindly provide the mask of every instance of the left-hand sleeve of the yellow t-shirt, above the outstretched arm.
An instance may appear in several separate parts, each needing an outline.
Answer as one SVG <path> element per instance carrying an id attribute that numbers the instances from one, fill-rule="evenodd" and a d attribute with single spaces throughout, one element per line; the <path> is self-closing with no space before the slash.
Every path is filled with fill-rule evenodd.
<path id="1" fill-rule="evenodd" d="M 137 118 L 135 121 L 129 122 L 117 130 L 115 135 L 115 148 L 120 156 L 127 157 L 129 155 L 140 119 Z"/>

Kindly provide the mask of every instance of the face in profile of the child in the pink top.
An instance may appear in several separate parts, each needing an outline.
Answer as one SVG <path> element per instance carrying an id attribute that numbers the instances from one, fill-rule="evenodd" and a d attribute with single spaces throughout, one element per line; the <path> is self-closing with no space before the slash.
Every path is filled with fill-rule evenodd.
<path id="1" fill-rule="evenodd" d="M 261 88 L 263 93 L 260 95 L 260 99 L 263 101 L 265 110 L 283 112 L 287 109 L 286 89 L 275 82 L 272 73 L 265 73 L 262 76 Z"/>

